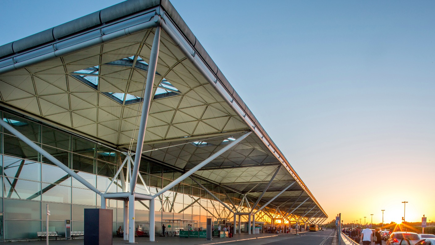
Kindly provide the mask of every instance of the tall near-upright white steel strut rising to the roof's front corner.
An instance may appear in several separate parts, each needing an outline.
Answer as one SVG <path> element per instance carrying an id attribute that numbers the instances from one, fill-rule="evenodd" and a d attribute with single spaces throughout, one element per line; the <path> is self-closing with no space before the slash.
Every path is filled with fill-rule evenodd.
<path id="1" fill-rule="evenodd" d="M 136 155 L 134 156 L 133 172 L 131 173 L 130 193 L 134 193 L 141 163 L 142 146 L 144 146 L 145 129 L 147 128 L 148 112 L 150 110 L 151 95 L 153 92 L 154 77 L 156 75 L 157 59 L 160 46 L 160 26 L 157 26 L 154 34 L 153 46 L 151 47 L 150 64 L 148 65 L 147 81 L 145 85 L 144 102 L 142 105 L 141 123 L 137 132 Z"/>

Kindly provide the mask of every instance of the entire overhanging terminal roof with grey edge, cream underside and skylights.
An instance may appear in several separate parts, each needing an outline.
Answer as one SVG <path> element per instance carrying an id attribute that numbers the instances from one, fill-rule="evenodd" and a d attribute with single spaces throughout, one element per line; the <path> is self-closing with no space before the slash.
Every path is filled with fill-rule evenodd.
<path id="1" fill-rule="evenodd" d="M 157 29 L 142 157 L 187 172 L 252 132 L 194 176 L 260 197 L 259 206 L 273 199 L 269 207 L 326 218 L 168 0 L 128 0 L 0 46 L 0 106 L 134 151 Z"/>

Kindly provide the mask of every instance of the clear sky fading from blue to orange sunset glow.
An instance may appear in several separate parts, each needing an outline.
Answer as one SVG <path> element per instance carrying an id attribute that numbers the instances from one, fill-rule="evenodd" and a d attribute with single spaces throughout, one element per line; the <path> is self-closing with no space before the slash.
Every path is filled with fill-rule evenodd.
<path id="1" fill-rule="evenodd" d="M 2 45 L 120 1 L 0 2 Z M 435 220 L 435 1 L 171 3 L 328 220 Z"/>

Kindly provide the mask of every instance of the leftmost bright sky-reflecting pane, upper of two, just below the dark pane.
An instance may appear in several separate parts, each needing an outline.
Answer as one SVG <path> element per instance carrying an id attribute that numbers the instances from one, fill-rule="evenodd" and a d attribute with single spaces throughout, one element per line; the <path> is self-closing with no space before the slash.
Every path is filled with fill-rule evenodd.
<path id="1" fill-rule="evenodd" d="M 41 163 L 35 163 L 15 157 L 3 157 L 3 174 L 27 180 L 41 180 Z"/>

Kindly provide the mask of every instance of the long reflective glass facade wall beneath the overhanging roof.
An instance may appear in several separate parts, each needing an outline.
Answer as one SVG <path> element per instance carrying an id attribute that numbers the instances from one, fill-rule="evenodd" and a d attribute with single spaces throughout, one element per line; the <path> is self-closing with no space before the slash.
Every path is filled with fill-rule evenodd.
<path id="1" fill-rule="evenodd" d="M 100 191 L 106 191 L 116 174 L 118 159 L 124 160 L 123 155 L 109 147 L 61 132 L 32 119 L 24 119 L 7 112 L 0 113 L 3 121 L 40 145 Z M 0 239 L 36 238 L 37 231 L 46 231 L 47 204 L 51 212 L 49 231 L 57 231 L 64 236 L 66 219 L 72 221 L 71 231 L 84 230 L 84 209 L 100 208 L 99 195 L 3 128 L 0 131 L 0 150 L 0 183 L 3 185 L 0 191 Z M 141 160 L 139 171 L 152 194 L 182 174 L 144 159 Z M 231 206 L 228 198 L 236 206 L 241 202 L 241 194 L 227 189 L 227 197 L 222 187 L 205 181 L 201 181 L 201 184 L 228 206 Z M 119 177 L 108 192 L 122 192 Z M 136 192 L 146 194 L 140 179 Z M 148 221 L 148 205 L 148 201 L 135 201 L 136 222 Z M 113 210 L 115 234 L 117 227 L 124 222 L 123 207 L 123 201 L 107 200 L 107 208 Z M 247 209 L 241 207 L 240 211 L 247 212 Z M 161 230 L 159 222 L 164 219 L 197 220 L 199 227 L 205 227 L 206 218 L 232 220 L 232 215 L 229 215 L 222 204 L 213 200 L 213 197 L 198 188 L 189 178 L 156 198 L 155 210 L 157 234 Z M 256 220 L 270 221 L 262 211 L 257 214 Z M 23 227 L 26 229 L 22 229 Z"/>

